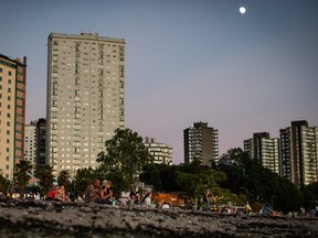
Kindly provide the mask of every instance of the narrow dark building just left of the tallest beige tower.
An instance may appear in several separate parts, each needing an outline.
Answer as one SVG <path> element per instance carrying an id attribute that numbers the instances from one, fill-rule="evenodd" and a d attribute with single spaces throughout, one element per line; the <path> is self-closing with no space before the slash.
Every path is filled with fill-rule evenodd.
<path id="1" fill-rule="evenodd" d="M 46 164 L 46 119 L 40 118 L 36 121 L 36 150 L 35 150 L 35 164 L 36 170 L 40 169 L 41 165 Z"/>

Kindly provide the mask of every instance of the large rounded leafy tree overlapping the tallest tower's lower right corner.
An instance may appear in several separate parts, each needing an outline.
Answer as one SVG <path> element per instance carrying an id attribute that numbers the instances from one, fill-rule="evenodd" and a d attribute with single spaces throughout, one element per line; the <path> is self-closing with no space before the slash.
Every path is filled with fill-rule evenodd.
<path id="1" fill-rule="evenodd" d="M 130 129 L 117 129 L 113 139 L 105 142 L 106 152 L 98 154 L 99 170 L 105 174 L 116 174 L 120 191 L 129 191 L 139 180 L 142 167 L 152 161 L 142 138 Z"/>

